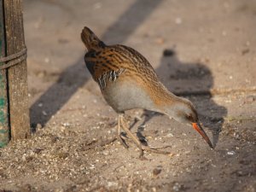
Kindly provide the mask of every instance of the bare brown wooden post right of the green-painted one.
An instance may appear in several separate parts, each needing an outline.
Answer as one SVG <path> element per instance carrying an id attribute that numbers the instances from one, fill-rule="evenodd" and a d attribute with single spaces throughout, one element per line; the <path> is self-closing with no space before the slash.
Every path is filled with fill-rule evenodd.
<path id="1" fill-rule="evenodd" d="M 21 0 L 0 1 L 3 1 L 4 9 L 6 56 L 15 55 L 26 48 Z M 11 139 L 26 138 L 30 135 L 26 60 L 7 69 L 7 83 Z"/>

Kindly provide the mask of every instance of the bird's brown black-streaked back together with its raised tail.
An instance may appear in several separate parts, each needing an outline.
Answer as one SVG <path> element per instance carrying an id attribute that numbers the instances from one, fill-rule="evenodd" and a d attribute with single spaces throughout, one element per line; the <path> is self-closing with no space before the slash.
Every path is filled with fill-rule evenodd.
<path id="1" fill-rule="evenodd" d="M 127 76 L 137 76 L 144 83 L 148 81 L 158 82 L 154 68 L 147 59 L 137 50 L 125 45 L 107 46 L 88 27 L 84 26 L 81 38 L 88 52 L 84 55 L 84 61 L 93 79 L 99 79 L 102 74 L 109 71 L 125 69 Z M 120 66 L 122 63 L 122 66 Z"/>

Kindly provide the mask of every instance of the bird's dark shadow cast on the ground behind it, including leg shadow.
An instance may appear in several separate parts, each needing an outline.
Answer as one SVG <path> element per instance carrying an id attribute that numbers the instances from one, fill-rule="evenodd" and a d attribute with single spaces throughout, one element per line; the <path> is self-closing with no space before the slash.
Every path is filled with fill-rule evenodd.
<path id="1" fill-rule="evenodd" d="M 177 96 L 188 97 L 195 104 L 202 124 L 212 132 L 212 144 L 218 143 L 219 132 L 224 123 L 227 109 L 218 105 L 212 99 L 211 89 L 213 87 L 212 72 L 207 65 L 201 62 L 186 63 L 179 61 L 173 49 L 164 52 L 160 67 L 155 69 L 160 81 L 166 85 Z M 143 122 L 138 125 L 137 137 L 145 145 L 148 143 L 143 137 L 143 127 L 150 119 L 160 113 L 148 113 L 144 111 Z M 134 126 L 131 125 L 131 127 Z"/>

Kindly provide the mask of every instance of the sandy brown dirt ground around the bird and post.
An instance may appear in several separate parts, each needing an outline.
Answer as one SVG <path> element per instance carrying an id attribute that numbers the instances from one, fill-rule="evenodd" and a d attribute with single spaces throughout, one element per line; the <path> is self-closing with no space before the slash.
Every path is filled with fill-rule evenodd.
<path id="1" fill-rule="evenodd" d="M 24 0 L 32 137 L 0 148 L 0 191 L 256 190 L 256 2 Z M 192 127 L 131 110 L 131 131 L 169 155 L 125 149 L 84 67 L 79 34 L 125 44 L 195 103 Z"/>

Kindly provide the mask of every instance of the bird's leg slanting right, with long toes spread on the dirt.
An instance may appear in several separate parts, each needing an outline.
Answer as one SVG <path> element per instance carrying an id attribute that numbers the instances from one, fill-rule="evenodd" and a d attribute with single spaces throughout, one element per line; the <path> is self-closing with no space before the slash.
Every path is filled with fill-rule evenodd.
<path id="1" fill-rule="evenodd" d="M 123 116 L 122 115 L 119 115 L 119 121 L 120 121 L 120 124 L 122 125 L 122 128 L 124 129 L 124 131 L 128 134 L 128 136 L 131 137 L 132 141 L 134 143 L 136 143 L 137 147 L 140 149 L 140 158 L 143 157 L 143 150 L 146 150 L 146 151 L 150 151 L 150 152 L 153 152 L 153 153 L 157 153 L 157 154 L 170 154 L 170 152 L 167 152 L 167 151 L 160 151 L 158 150 L 157 148 L 151 148 L 151 147 L 148 147 L 148 146 L 144 146 L 138 139 L 137 137 L 135 137 L 129 128 L 127 128 L 127 126 L 125 125 L 125 122 L 124 122 L 124 119 L 123 119 Z M 166 148 L 166 147 L 164 147 Z"/>

